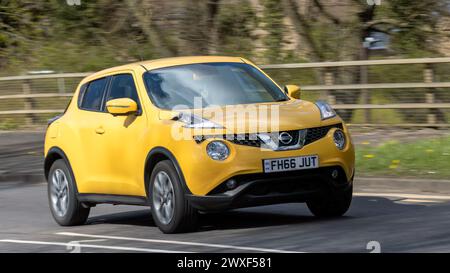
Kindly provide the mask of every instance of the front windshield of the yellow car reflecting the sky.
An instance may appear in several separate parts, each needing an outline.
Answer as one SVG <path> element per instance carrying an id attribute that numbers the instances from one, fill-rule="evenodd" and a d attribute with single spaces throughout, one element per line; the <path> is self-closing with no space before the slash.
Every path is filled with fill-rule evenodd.
<path id="1" fill-rule="evenodd" d="M 144 81 L 152 102 L 163 109 L 192 109 L 288 99 L 263 73 L 244 63 L 166 67 L 146 72 Z"/>

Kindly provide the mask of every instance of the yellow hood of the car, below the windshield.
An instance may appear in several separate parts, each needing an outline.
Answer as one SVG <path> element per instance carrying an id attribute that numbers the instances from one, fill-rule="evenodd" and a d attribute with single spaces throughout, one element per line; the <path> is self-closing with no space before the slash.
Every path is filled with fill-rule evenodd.
<path id="1" fill-rule="evenodd" d="M 275 132 L 321 126 L 319 109 L 304 100 L 161 111 L 160 118 L 170 119 L 179 112 L 188 112 L 221 125 L 223 133 Z"/>

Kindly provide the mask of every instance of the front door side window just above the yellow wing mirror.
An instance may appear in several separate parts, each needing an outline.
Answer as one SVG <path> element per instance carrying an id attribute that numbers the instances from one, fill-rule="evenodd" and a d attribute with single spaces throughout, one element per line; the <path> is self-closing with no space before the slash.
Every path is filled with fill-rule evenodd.
<path id="1" fill-rule="evenodd" d="M 130 98 L 139 105 L 139 98 L 134 84 L 133 76 L 120 74 L 113 76 L 111 88 L 106 101 L 120 98 Z"/>

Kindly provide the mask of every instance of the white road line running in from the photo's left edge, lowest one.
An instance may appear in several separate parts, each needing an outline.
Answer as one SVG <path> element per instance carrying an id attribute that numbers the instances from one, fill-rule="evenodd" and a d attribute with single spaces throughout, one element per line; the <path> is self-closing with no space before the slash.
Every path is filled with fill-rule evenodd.
<path id="1" fill-rule="evenodd" d="M 61 242 L 45 242 L 45 241 L 28 241 L 28 240 L 0 240 L 0 243 L 12 243 L 12 244 L 31 244 L 31 245 L 53 245 L 53 246 L 65 246 L 81 248 L 98 248 L 109 250 L 121 250 L 121 251 L 137 251 L 137 252 L 152 252 L 152 253 L 185 253 L 184 251 L 171 251 L 165 249 L 153 249 L 153 248 L 137 248 L 137 247 L 121 247 L 121 246 L 107 246 L 107 245 L 91 245 L 91 244 L 74 244 L 74 243 L 61 243 Z"/>

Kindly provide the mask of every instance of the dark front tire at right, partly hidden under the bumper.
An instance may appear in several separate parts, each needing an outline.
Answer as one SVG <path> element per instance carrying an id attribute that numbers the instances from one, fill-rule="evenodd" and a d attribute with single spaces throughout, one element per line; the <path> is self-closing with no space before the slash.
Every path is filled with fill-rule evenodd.
<path id="1" fill-rule="evenodd" d="M 339 217 L 350 208 L 353 184 L 345 190 L 333 190 L 306 202 L 312 214 L 321 218 Z"/>

